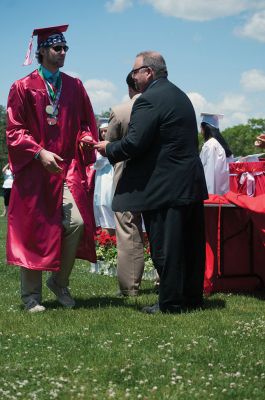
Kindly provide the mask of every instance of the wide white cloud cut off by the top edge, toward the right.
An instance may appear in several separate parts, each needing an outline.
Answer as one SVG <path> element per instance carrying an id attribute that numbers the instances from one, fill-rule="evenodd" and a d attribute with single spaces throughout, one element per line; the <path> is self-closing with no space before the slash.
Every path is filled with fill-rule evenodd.
<path id="1" fill-rule="evenodd" d="M 158 12 L 175 18 L 207 21 L 265 6 L 264 0 L 142 0 Z"/>

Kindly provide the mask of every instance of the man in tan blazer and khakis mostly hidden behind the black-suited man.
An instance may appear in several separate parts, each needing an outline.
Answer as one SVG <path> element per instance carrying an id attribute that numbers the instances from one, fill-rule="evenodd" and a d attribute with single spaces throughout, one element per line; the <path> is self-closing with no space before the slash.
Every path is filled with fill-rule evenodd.
<path id="1" fill-rule="evenodd" d="M 132 106 L 140 92 L 135 87 L 132 74 L 126 78 L 130 100 L 112 108 L 106 140 L 122 139 L 128 132 Z M 123 162 L 114 165 L 114 189 L 119 181 Z M 115 212 L 117 238 L 117 277 L 120 293 L 137 296 L 144 271 L 144 239 L 140 212 Z"/>

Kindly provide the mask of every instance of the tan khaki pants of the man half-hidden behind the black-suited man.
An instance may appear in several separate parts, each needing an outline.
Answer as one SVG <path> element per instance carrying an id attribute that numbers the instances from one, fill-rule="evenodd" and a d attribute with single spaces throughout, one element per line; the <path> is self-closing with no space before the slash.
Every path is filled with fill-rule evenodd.
<path id="1" fill-rule="evenodd" d="M 144 271 L 144 240 L 140 213 L 116 212 L 117 277 L 125 295 L 136 295 Z"/>

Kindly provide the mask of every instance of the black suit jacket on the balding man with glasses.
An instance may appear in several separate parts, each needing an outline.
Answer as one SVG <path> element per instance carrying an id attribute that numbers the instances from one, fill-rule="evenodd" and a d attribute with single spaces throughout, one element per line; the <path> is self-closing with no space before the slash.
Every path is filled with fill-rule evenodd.
<path id="1" fill-rule="evenodd" d="M 155 210 L 207 198 L 193 106 L 166 78 L 138 97 L 127 136 L 109 143 L 106 153 L 111 163 L 127 160 L 114 211 Z"/>

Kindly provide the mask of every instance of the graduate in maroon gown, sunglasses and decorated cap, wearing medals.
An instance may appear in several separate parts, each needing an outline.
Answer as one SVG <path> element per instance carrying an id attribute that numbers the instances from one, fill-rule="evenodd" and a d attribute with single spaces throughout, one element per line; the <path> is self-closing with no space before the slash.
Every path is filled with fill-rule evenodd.
<path id="1" fill-rule="evenodd" d="M 21 268 L 21 297 L 30 312 L 41 305 L 41 271 L 65 307 L 75 305 L 69 276 L 75 258 L 95 262 L 94 215 L 86 167 L 98 140 L 89 97 L 77 78 L 60 71 L 68 25 L 36 29 L 39 68 L 16 81 L 7 105 L 7 144 L 15 176 L 9 206 L 7 262 Z M 31 50 L 32 43 L 29 46 Z M 25 64 L 29 64 L 28 51 Z"/>

